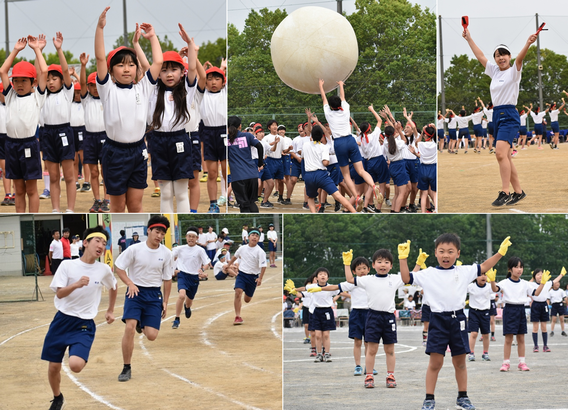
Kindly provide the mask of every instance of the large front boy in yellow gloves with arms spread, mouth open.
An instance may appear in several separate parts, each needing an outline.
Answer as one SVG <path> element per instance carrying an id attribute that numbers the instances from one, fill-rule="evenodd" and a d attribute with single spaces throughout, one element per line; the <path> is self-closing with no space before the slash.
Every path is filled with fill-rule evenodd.
<path id="1" fill-rule="evenodd" d="M 436 406 L 434 390 L 438 373 L 444 364 L 446 347 L 452 352 L 452 363 L 458 383 L 456 408 L 474 410 L 475 406 L 467 397 L 467 368 L 465 356 L 470 352 L 463 312 L 467 286 L 477 276 L 493 268 L 505 256 L 511 242 L 505 238 L 499 251 L 481 265 L 454 266 L 460 256 L 460 238 L 451 233 L 440 235 L 434 242 L 438 267 L 430 267 L 410 273 L 406 259 L 410 252 L 410 241 L 398 245 L 400 273 L 405 283 L 421 286 L 428 294 L 430 321 L 426 354 L 430 355 L 426 371 L 426 399 L 422 410 L 433 410 Z"/>

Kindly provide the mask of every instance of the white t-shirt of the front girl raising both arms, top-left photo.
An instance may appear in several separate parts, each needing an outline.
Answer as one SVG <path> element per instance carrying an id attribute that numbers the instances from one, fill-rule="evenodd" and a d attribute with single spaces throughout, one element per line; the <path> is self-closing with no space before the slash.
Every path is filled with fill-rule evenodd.
<path id="1" fill-rule="evenodd" d="M 146 133 L 148 101 L 157 82 L 150 70 L 130 87 L 119 86 L 110 79 L 110 74 L 100 82 L 97 76 L 97 91 L 103 103 L 107 136 L 121 143 L 138 142 Z"/>

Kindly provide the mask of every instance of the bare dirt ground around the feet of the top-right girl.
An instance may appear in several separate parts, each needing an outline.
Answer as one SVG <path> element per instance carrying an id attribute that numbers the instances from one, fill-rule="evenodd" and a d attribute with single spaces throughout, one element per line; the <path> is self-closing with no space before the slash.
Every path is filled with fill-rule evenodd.
<path id="1" fill-rule="evenodd" d="M 491 203 L 501 190 L 499 166 L 489 150 L 458 155 L 438 153 L 439 209 L 442 213 L 541 213 L 566 212 L 568 183 L 563 171 L 568 164 L 568 143 L 552 150 L 532 145 L 518 151 L 513 163 L 527 197 L 508 207 Z"/>

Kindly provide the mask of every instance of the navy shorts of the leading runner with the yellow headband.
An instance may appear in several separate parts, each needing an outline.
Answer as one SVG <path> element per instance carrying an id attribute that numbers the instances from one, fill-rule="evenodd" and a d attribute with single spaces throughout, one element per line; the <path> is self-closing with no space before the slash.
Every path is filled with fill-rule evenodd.
<path id="1" fill-rule="evenodd" d="M 93 319 L 81 319 L 57 312 L 45 335 L 41 359 L 61 363 L 65 350 L 69 347 L 69 356 L 89 361 L 96 331 Z"/>

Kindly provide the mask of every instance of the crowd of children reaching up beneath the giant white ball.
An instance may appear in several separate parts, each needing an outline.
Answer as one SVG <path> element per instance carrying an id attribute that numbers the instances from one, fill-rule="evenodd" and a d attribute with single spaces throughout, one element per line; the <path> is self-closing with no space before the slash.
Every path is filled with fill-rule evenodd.
<path id="1" fill-rule="evenodd" d="M 421 211 L 434 212 L 436 204 L 436 130 L 429 124 L 418 132 L 413 113 L 404 109 L 406 125 L 396 121 L 388 106 L 378 113 L 369 111 L 373 121 L 353 121 L 345 100 L 344 83 L 338 81 L 339 95 L 329 98 L 319 80 L 323 111 L 322 124 L 309 109 L 307 122 L 298 125 L 299 136 L 286 136 L 277 121 L 251 123 L 243 132 L 239 117 L 229 117 L 230 181 L 241 212 L 273 208 L 276 187 L 278 202 L 291 205 L 300 176 L 305 183 L 303 208 L 325 212 L 327 196 L 335 199 L 335 211 L 380 213 L 383 200 L 390 212 L 417 212 L 418 190 Z M 385 124 L 381 131 L 381 125 Z M 374 124 L 374 125 L 373 125 Z M 352 134 L 352 129 L 357 130 Z M 390 198 L 390 180 L 395 194 Z M 286 187 L 286 196 L 284 188 Z M 346 198 L 349 196 L 349 199 Z M 319 205 L 316 207 L 316 199 Z M 409 203 L 408 206 L 406 204 Z"/>

